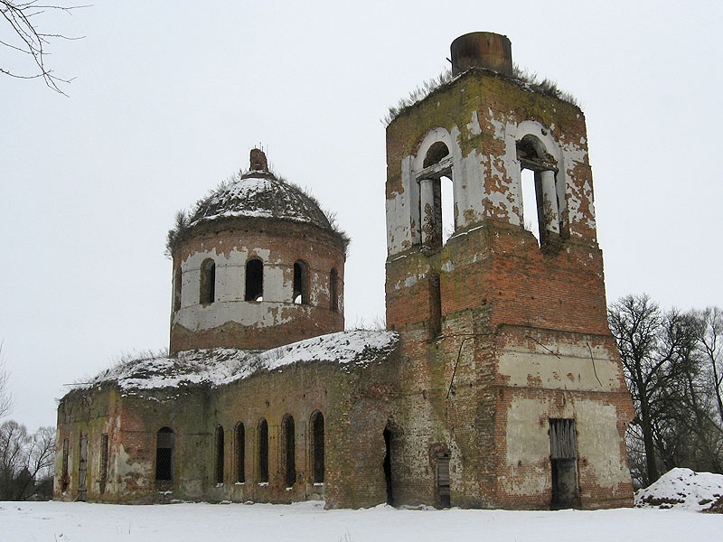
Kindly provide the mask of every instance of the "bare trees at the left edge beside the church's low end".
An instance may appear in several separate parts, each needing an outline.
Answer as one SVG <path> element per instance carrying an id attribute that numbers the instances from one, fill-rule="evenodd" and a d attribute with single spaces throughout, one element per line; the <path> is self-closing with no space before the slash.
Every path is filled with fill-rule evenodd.
<path id="1" fill-rule="evenodd" d="M 2 356 L 0 343 L 0 420 L 13 408 Z M 41 427 L 31 435 L 14 420 L 0 425 L 0 500 L 51 499 L 54 465 L 54 427 Z"/>

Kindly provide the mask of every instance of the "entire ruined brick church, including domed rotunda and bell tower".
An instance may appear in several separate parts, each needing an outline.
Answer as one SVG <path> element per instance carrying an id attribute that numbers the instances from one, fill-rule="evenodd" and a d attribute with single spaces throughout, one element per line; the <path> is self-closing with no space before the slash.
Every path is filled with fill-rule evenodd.
<path id="1" fill-rule="evenodd" d="M 631 504 L 585 117 L 505 36 L 451 53 L 387 128 L 387 331 L 343 331 L 347 239 L 254 149 L 169 234 L 168 355 L 61 399 L 55 499 Z"/>

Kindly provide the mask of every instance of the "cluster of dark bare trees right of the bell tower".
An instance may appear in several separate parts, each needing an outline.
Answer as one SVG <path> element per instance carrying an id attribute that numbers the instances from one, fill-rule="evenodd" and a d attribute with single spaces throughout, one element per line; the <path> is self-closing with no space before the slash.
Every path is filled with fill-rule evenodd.
<path id="1" fill-rule="evenodd" d="M 664 311 L 643 294 L 607 314 L 633 396 L 626 441 L 635 486 L 673 467 L 723 472 L 723 311 Z"/>

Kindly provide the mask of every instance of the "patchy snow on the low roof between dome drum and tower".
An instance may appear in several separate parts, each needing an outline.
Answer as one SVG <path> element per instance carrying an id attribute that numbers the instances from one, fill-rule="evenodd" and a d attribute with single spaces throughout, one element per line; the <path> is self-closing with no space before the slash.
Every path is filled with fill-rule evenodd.
<path id="1" fill-rule="evenodd" d="M 315 361 L 363 367 L 389 354 L 398 339 L 395 332 L 353 331 L 330 333 L 266 351 L 187 350 L 176 357 L 148 356 L 118 363 L 78 387 L 93 388 L 108 382 L 117 383 L 122 390 L 221 386 L 249 378 L 259 370 Z"/>

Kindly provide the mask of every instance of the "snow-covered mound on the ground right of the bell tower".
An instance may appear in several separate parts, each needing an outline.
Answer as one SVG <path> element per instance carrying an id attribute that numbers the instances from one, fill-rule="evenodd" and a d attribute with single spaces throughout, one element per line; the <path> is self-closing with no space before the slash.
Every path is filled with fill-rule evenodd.
<path id="1" fill-rule="evenodd" d="M 723 474 L 676 468 L 635 493 L 635 506 L 702 510 L 723 495 Z"/>

